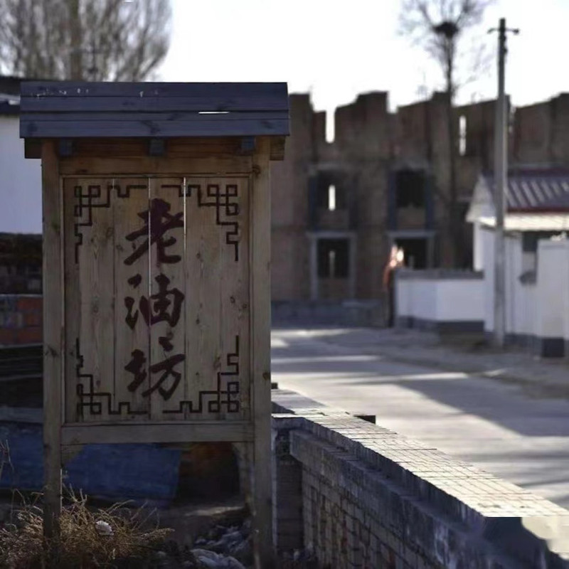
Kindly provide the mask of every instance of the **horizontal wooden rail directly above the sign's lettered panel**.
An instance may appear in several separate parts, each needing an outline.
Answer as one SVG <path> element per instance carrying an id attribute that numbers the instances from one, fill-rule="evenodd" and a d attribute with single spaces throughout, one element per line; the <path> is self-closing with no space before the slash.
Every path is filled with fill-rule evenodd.
<path id="1" fill-rule="evenodd" d="M 92 158 L 62 158 L 60 172 L 65 175 L 127 175 L 137 176 L 148 174 L 157 176 L 164 174 L 208 174 L 210 172 L 227 174 L 249 174 L 252 167 L 251 156 L 234 156 L 227 159 L 201 158 L 188 160 L 185 158 L 150 158 L 129 157 L 117 159 Z"/>

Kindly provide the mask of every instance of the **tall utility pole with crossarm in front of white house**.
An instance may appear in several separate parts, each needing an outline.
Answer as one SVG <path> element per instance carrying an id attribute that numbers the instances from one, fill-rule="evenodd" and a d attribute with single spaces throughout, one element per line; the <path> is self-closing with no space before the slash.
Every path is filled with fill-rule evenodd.
<path id="1" fill-rule="evenodd" d="M 498 31 L 498 100 L 494 126 L 494 207 L 496 228 L 494 230 L 494 346 L 504 348 L 506 337 L 506 246 L 504 242 L 504 213 L 508 187 L 508 105 L 506 102 L 506 32 L 519 33 L 506 28 L 506 18 L 500 18 Z"/>

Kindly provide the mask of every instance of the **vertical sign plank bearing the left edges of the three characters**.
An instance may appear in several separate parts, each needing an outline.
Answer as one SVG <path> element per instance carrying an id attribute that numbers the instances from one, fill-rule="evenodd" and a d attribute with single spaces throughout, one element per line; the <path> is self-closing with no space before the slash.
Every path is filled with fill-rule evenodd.
<path id="1" fill-rule="evenodd" d="M 140 314 L 149 296 L 147 178 L 119 178 L 115 194 L 115 410 L 121 418 L 149 418 L 149 330 Z"/>

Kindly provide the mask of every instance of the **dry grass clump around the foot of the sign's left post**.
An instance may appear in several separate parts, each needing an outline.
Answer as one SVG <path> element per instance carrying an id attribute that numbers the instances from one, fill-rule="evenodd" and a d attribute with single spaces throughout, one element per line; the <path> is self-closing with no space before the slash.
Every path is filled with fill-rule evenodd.
<path id="1" fill-rule="evenodd" d="M 61 512 L 61 569 L 116 568 L 138 566 L 153 546 L 164 541 L 169 529 L 149 528 L 150 515 L 144 509 L 129 511 L 126 504 L 92 511 L 87 497 L 70 494 Z M 99 522 L 97 524 L 97 522 Z M 112 533 L 101 531 L 101 522 Z M 97 527 L 98 526 L 98 527 Z M 105 526 L 105 527 L 108 527 Z M 141 563 L 142 565 L 142 563 Z M 36 569 L 46 566 L 41 507 L 26 504 L 14 512 L 14 523 L 0 528 L 0 568 Z"/>

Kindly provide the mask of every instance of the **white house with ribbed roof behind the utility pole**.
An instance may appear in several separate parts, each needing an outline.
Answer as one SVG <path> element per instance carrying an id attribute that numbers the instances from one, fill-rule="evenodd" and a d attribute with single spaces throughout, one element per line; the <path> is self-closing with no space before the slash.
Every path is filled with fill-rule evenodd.
<path id="1" fill-rule="evenodd" d="M 484 273 L 484 330 L 494 329 L 494 179 L 479 176 L 467 221 Z M 569 355 L 569 170 L 509 172 L 504 216 L 506 337 L 540 356 Z"/>

